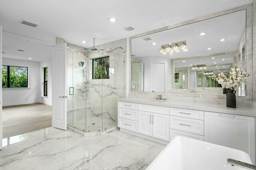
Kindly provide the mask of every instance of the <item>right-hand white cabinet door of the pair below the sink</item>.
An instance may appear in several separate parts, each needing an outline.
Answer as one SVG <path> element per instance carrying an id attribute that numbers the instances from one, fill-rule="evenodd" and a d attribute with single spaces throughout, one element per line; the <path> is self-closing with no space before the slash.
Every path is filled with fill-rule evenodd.
<path id="1" fill-rule="evenodd" d="M 152 113 L 153 137 L 169 141 L 169 115 Z"/>

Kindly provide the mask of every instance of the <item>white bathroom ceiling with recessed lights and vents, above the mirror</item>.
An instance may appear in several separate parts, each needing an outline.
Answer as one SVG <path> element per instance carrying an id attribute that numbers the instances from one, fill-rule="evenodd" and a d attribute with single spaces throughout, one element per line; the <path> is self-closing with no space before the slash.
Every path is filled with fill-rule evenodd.
<path id="1" fill-rule="evenodd" d="M 92 47 L 92 38 L 101 45 L 250 3 L 252 0 L 2 0 L 0 25 L 3 31 L 26 37 L 52 43 L 61 37 Z M 118 21 L 108 21 L 111 17 Z M 20 20 L 39 26 L 22 25 Z M 135 30 L 127 32 L 122 29 L 125 26 Z"/>

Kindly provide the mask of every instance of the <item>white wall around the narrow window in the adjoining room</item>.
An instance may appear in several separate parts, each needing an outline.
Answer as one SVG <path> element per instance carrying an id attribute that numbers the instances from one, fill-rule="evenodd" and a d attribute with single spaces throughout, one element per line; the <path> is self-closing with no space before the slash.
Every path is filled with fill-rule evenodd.
<path id="1" fill-rule="evenodd" d="M 48 96 L 44 96 L 44 68 L 48 67 Z M 40 62 L 39 100 L 40 103 L 52 106 L 52 59 Z"/>

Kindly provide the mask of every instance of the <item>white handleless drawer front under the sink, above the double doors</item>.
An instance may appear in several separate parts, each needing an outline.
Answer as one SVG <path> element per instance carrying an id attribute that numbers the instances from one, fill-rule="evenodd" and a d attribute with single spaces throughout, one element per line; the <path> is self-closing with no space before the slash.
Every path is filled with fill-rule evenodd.
<path id="1" fill-rule="evenodd" d="M 148 111 L 152 113 L 160 113 L 164 115 L 169 115 L 169 112 L 170 112 L 169 107 L 154 106 L 154 105 L 147 105 L 147 104 L 138 104 L 138 110 Z"/>

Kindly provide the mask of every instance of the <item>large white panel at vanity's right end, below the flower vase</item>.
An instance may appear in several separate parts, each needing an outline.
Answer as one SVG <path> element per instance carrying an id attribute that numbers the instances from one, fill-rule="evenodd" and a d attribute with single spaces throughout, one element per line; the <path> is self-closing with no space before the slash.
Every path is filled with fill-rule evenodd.
<path id="1" fill-rule="evenodd" d="M 204 112 L 204 141 L 242 150 L 255 163 L 255 118 Z"/>

